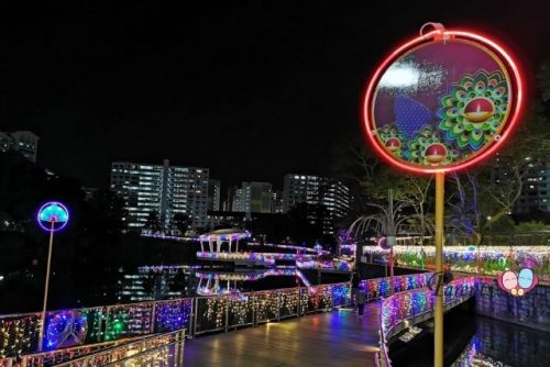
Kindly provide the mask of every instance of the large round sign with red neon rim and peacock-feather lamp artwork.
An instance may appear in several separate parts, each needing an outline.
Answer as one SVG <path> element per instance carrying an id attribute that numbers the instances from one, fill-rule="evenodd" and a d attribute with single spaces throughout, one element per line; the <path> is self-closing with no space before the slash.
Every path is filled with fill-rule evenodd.
<path id="1" fill-rule="evenodd" d="M 364 99 L 369 142 L 410 173 L 482 162 L 510 135 L 524 105 L 518 66 L 503 46 L 435 27 L 382 62 Z"/>

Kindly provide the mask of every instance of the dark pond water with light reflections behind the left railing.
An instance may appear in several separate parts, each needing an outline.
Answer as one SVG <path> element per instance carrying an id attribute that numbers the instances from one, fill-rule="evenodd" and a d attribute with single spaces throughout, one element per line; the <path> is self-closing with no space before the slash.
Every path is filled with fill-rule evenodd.
<path id="1" fill-rule="evenodd" d="M 349 275 L 323 275 L 295 267 L 144 266 L 118 268 L 70 283 L 52 276 L 48 309 L 72 309 L 196 296 L 213 296 L 346 281 Z M 0 285 L 0 314 L 35 312 L 42 307 L 43 279 L 21 274 Z"/>

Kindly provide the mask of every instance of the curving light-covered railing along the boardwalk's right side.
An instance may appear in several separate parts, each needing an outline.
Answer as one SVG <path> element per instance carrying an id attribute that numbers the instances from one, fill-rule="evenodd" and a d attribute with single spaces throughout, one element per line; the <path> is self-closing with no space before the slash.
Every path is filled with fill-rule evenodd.
<path id="1" fill-rule="evenodd" d="M 443 288 L 443 304 L 446 308 L 452 308 L 470 299 L 475 292 L 475 278 L 460 278 L 446 285 Z M 380 346 L 385 366 L 391 366 L 387 356 L 387 340 L 397 334 L 407 324 L 406 322 L 415 319 L 420 322 L 422 315 L 428 315 L 433 311 L 436 296 L 430 289 L 416 289 L 411 291 L 393 294 L 384 300 L 380 319 Z"/>

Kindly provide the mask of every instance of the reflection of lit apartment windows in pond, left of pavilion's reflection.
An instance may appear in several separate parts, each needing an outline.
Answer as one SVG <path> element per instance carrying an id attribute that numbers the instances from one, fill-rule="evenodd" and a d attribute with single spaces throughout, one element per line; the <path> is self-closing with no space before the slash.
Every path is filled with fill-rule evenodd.
<path id="1" fill-rule="evenodd" d="M 144 266 L 123 274 L 118 281 L 118 300 L 156 301 L 195 296 L 197 280 L 190 266 Z"/>

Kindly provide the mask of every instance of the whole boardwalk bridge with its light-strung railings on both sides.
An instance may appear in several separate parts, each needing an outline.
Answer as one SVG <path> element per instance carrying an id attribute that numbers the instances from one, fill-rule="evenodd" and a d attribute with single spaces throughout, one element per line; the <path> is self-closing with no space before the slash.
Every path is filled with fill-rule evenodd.
<path id="1" fill-rule="evenodd" d="M 389 365 L 385 341 L 431 316 L 430 277 L 395 277 L 393 296 L 388 278 L 364 280 L 373 302 L 361 319 L 345 308 L 349 282 L 50 311 L 42 351 L 40 313 L 2 315 L 0 366 Z M 447 308 L 473 285 L 446 286 Z M 204 334 L 212 335 L 196 338 Z"/>

